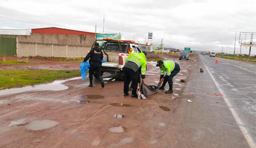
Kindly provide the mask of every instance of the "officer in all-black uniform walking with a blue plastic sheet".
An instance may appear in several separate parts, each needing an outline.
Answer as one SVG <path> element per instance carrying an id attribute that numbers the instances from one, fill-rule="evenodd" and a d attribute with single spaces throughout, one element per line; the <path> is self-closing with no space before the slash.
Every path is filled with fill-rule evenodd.
<path id="1" fill-rule="evenodd" d="M 86 62 L 88 59 L 90 63 L 89 68 L 89 79 L 90 79 L 90 85 L 89 87 L 93 87 L 92 79 L 93 75 L 95 78 L 100 80 L 101 87 L 104 87 L 104 81 L 101 76 L 101 60 L 103 59 L 103 53 L 101 49 L 99 48 L 99 43 L 95 43 L 94 47 L 90 50 L 90 52 L 86 55 L 84 58 L 84 62 Z"/>

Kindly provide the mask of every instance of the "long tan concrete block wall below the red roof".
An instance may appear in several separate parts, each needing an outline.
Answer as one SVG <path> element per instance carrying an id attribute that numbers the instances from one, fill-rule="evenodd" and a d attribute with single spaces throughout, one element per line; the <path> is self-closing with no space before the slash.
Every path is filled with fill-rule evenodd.
<path id="1" fill-rule="evenodd" d="M 31 34 L 17 36 L 17 56 L 84 57 L 94 43 L 94 36 Z"/>

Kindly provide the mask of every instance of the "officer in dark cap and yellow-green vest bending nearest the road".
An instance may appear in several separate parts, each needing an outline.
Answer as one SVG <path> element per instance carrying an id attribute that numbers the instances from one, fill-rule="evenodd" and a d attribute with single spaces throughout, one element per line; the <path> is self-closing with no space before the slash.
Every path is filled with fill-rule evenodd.
<path id="1" fill-rule="evenodd" d="M 160 80 L 158 83 L 158 87 L 163 82 L 162 86 L 159 89 L 164 90 L 164 87 L 166 83 L 169 83 L 169 90 L 165 91 L 164 93 L 172 93 L 172 79 L 177 73 L 180 72 L 180 66 L 178 63 L 175 63 L 174 61 L 157 61 L 156 67 L 160 68 Z M 164 72 L 166 72 L 166 75 L 164 76 Z"/>

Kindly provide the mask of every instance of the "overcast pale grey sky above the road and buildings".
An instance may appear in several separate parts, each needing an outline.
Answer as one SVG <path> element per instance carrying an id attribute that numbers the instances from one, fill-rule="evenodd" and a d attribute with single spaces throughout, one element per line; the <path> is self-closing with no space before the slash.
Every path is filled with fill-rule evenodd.
<path id="1" fill-rule="evenodd" d="M 121 33 L 165 47 L 234 52 L 235 32 L 256 32 L 256 0 L 0 0 L 0 28 L 60 27 Z M 256 36 L 254 37 L 256 40 Z M 236 44 L 236 51 L 240 45 Z M 242 53 L 249 48 L 242 47 Z M 252 48 L 256 54 L 256 47 Z"/>

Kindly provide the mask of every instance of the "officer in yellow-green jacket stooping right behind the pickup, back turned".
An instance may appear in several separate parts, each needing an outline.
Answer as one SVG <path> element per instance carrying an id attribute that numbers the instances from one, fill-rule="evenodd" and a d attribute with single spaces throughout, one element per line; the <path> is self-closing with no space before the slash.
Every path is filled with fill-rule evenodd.
<path id="1" fill-rule="evenodd" d="M 138 88 L 138 77 L 139 73 L 142 77 L 142 82 L 145 79 L 146 74 L 146 55 L 147 53 L 143 51 L 142 53 L 132 53 L 126 58 L 126 63 L 123 68 L 124 73 L 124 96 L 128 96 L 129 83 L 132 81 L 132 96 L 138 97 L 136 91 Z M 139 69 L 141 69 L 139 71 Z"/>

